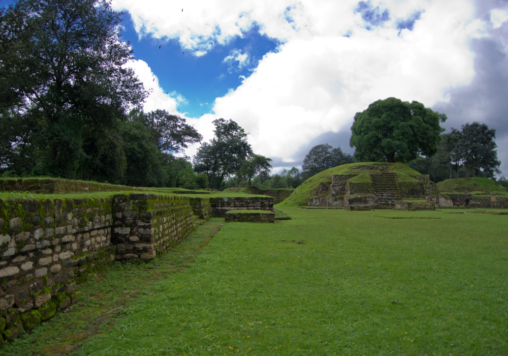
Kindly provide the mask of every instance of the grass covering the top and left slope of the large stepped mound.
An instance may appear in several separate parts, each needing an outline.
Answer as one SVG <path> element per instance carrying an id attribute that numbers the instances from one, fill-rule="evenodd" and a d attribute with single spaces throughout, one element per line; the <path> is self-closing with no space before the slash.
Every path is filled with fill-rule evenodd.
<path id="1" fill-rule="evenodd" d="M 375 169 L 371 169 L 367 171 L 361 171 L 355 169 L 355 167 L 364 164 L 372 164 L 372 165 L 388 165 L 388 163 L 379 163 L 379 162 L 359 162 L 359 163 L 349 163 L 343 164 L 341 166 L 329 168 L 324 170 L 323 172 L 317 173 L 316 175 L 311 176 L 308 180 L 302 183 L 302 185 L 295 189 L 293 194 L 291 194 L 287 199 L 282 201 L 281 205 L 307 205 L 307 201 L 311 198 L 316 197 L 315 192 L 317 187 L 319 187 L 320 183 L 331 184 L 332 183 L 332 175 L 334 174 L 358 174 L 354 181 L 361 182 L 370 182 L 370 175 L 368 173 L 377 174 L 380 171 Z M 414 178 L 409 175 L 420 175 L 416 170 L 409 168 L 404 163 L 390 163 L 389 169 L 390 172 L 394 172 L 397 174 L 398 181 L 416 181 Z"/>

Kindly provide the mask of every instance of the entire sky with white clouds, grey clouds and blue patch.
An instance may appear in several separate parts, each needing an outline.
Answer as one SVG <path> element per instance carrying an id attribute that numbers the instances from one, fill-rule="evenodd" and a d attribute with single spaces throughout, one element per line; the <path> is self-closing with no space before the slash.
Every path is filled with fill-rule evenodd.
<path id="1" fill-rule="evenodd" d="M 5 0 L 0 4 L 6 4 Z M 507 0 L 112 0 L 150 95 L 204 140 L 232 119 L 274 171 L 349 145 L 356 112 L 419 101 L 496 129 L 508 175 Z M 160 48 L 159 48 L 160 46 Z M 192 157 L 199 145 L 190 147 Z"/>

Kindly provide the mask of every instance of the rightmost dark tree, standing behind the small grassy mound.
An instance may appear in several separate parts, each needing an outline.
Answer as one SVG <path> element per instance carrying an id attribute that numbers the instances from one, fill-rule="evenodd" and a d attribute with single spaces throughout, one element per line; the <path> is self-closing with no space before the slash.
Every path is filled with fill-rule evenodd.
<path id="1" fill-rule="evenodd" d="M 486 124 L 473 122 L 462 125 L 462 154 L 468 176 L 493 177 L 501 173 L 497 159 L 496 130 Z"/>

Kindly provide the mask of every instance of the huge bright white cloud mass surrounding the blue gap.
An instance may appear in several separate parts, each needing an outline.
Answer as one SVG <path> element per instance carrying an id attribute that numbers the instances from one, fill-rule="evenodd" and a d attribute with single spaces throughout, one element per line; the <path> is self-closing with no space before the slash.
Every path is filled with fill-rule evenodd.
<path id="1" fill-rule="evenodd" d="M 278 52 L 264 55 L 239 87 L 216 98 L 215 114 L 189 120 L 209 139 L 214 118 L 232 118 L 250 133 L 255 152 L 289 164 L 316 137 L 345 137 L 354 114 L 375 100 L 445 101 L 453 88 L 472 82 L 469 44 L 485 36 L 469 0 L 188 0 L 183 13 L 155 0 L 113 6 L 131 13 L 141 35 L 178 38 L 201 55 L 252 26 L 280 40 Z M 247 53 L 226 58 L 240 65 L 239 54 Z"/>

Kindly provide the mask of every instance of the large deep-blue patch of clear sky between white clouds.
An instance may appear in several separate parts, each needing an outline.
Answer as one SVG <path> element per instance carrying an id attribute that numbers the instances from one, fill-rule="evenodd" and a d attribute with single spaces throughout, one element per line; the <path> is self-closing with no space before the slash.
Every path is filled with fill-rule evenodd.
<path id="1" fill-rule="evenodd" d="M 193 51 L 185 51 L 178 39 L 156 39 L 150 34 L 140 38 L 131 15 L 126 13 L 123 19 L 122 39 L 131 42 L 137 60 L 149 64 L 165 93 L 173 97 L 180 94 L 186 99 L 177 108 L 189 117 L 213 112 L 215 98 L 235 90 L 242 83 L 241 76 L 250 76 L 263 55 L 276 51 L 279 45 L 279 41 L 261 35 L 258 26 L 252 26 L 242 37 L 196 56 Z M 249 63 L 239 67 L 238 61 L 225 62 L 232 51 L 247 53 Z"/>

